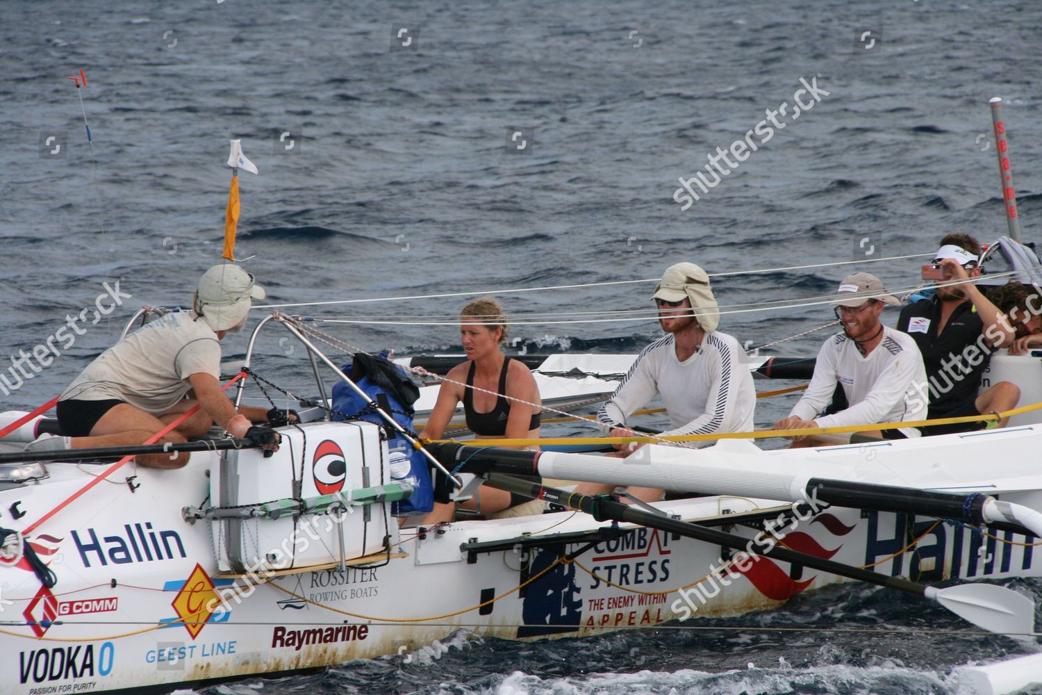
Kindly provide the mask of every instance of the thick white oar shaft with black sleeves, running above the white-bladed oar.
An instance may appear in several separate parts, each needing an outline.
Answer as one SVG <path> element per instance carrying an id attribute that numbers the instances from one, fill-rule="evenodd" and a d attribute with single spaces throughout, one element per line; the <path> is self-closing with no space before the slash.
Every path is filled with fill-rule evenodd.
<path id="1" fill-rule="evenodd" d="M 589 480 L 610 485 L 665 488 L 703 495 L 743 495 L 790 502 L 824 502 L 837 506 L 879 512 L 905 512 L 969 524 L 994 524 L 1018 533 L 1042 537 L 1042 514 L 1022 504 L 1000 501 L 979 492 L 953 493 L 919 488 L 884 486 L 796 475 L 784 471 L 743 467 L 743 454 L 697 452 L 694 461 L 672 461 L 671 451 L 642 447 L 626 458 L 581 453 L 534 452 L 488 447 L 468 453 L 428 444 L 443 463 L 454 467 L 467 458 L 467 473 L 485 472 L 539 475 L 563 480 Z M 755 455 L 763 455 L 758 453 Z M 737 456 L 731 458 L 730 456 Z"/>

